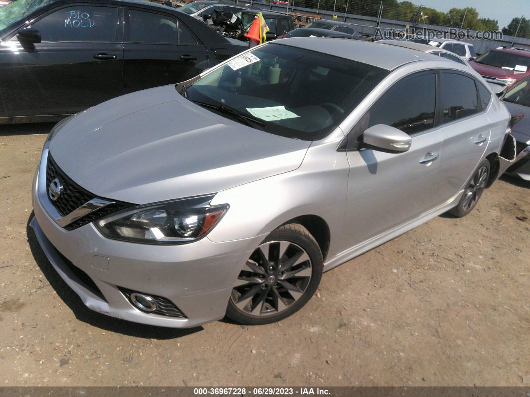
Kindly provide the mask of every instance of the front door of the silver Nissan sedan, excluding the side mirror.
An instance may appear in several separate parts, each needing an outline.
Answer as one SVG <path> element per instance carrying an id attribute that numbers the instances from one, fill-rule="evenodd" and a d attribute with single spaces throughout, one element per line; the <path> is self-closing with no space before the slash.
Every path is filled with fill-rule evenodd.
<path id="1" fill-rule="evenodd" d="M 354 136 L 348 137 L 349 142 L 356 142 L 367 128 L 384 124 L 412 137 L 411 148 L 404 153 L 364 148 L 347 152 L 350 174 L 345 233 L 351 246 L 440 204 L 443 136 L 434 128 L 436 81 L 436 73 L 428 72 L 396 83 L 350 132 Z"/>

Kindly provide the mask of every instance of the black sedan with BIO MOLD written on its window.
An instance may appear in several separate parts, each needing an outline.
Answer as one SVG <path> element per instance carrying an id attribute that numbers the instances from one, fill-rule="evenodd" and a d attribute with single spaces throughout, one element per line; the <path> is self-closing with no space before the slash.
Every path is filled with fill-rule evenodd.
<path id="1" fill-rule="evenodd" d="M 247 48 L 136 0 L 17 0 L 0 8 L 0 39 L 0 123 L 57 120 L 188 80 Z"/>

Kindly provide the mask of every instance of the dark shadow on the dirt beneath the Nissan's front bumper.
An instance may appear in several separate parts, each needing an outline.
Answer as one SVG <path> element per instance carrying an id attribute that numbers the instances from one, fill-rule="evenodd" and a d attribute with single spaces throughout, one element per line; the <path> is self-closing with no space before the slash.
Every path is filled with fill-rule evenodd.
<path id="1" fill-rule="evenodd" d="M 116 319 L 98 312 L 94 312 L 87 308 L 83 301 L 77 294 L 70 288 L 65 281 L 59 276 L 57 271 L 51 265 L 50 261 L 46 257 L 46 254 L 42 251 L 40 244 L 37 240 L 37 236 L 33 232 L 33 228 L 30 226 L 30 222 L 33 219 L 34 214 L 32 213 L 28 219 L 26 225 L 26 231 L 28 234 L 28 243 L 30 245 L 31 253 L 33 258 L 40 267 L 42 273 L 49 281 L 52 288 L 59 298 L 63 299 L 64 303 L 74 312 L 76 318 L 85 323 L 89 323 L 94 327 L 102 328 L 112 332 L 118 332 L 137 338 L 155 338 L 155 339 L 172 339 L 179 338 L 190 333 L 203 330 L 202 327 L 188 328 L 188 329 L 176 329 L 176 328 L 164 328 L 155 327 L 153 325 L 145 325 L 139 323 L 133 323 L 130 321 Z"/>

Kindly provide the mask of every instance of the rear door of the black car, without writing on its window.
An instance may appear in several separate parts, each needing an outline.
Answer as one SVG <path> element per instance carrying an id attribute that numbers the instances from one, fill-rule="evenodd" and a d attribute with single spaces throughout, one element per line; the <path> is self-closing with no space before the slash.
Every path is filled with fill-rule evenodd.
<path id="1" fill-rule="evenodd" d="M 123 57 L 125 92 L 179 83 L 208 67 L 205 46 L 178 17 L 136 8 L 126 12 Z"/>

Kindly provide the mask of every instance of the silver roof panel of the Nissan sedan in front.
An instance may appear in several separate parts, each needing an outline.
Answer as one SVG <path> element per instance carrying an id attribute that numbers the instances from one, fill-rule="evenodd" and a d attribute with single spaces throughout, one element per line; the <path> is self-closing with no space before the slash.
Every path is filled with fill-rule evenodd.
<path id="1" fill-rule="evenodd" d="M 322 52 L 386 70 L 393 70 L 401 65 L 420 60 L 432 60 L 432 55 L 424 52 L 396 46 L 376 46 L 374 43 L 360 40 L 313 40 L 311 37 L 292 37 L 275 40 L 271 45 L 292 46 Z M 440 61 L 453 63 L 452 60 L 443 58 L 440 58 Z"/>

